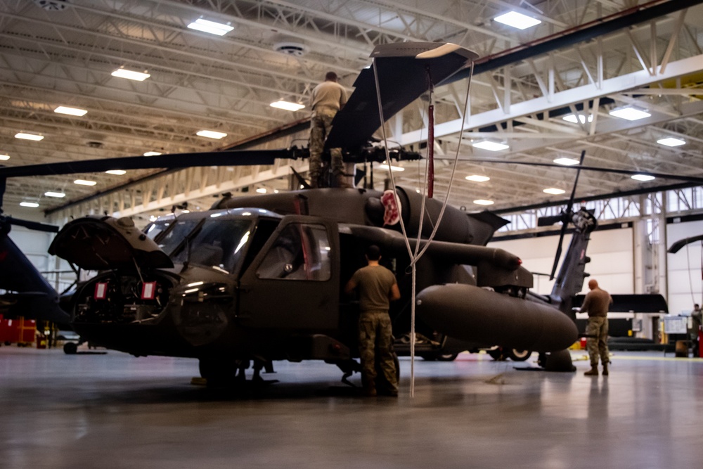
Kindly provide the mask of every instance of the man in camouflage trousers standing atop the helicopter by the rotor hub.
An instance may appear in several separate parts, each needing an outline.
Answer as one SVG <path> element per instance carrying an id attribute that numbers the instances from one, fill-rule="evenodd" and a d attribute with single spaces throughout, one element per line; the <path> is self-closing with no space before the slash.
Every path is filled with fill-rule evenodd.
<path id="1" fill-rule="evenodd" d="M 347 103 L 347 91 L 344 86 L 337 83 L 337 74 L 328 72 L 325 81 L 315 86 L 312 90 L 310 120 L 310 185 L 318 186 L 322 165 L 322 152 L 325 148 L 325 139 L 332 131 L 332 120 L 337 111 L 344 108 Z M 350 187 L 344 181 L 344 165 L 342 164 L 342 149 L 330 148 L 332 174 L 338 187 Z"/>

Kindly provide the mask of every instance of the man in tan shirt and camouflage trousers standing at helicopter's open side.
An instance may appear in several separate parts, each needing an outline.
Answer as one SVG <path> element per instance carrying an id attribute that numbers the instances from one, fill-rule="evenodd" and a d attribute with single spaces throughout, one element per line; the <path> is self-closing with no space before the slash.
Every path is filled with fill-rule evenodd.
<path id="1" fill-rule="evenodd" d="M 386 383 L 379 394 L 398 395 L 393 330 L 388 316 L 390 302 L 400 298 L 395 276 L 379 265 L 380 250 L 371 245 L 366 250 L 368 266 L 354 272 L 344 291 L 347 295 L 359 290 L 359 356 L 361 357 L 361 383 L 364 394 L 375 396 L 376 378 L 382 374 Z"/>

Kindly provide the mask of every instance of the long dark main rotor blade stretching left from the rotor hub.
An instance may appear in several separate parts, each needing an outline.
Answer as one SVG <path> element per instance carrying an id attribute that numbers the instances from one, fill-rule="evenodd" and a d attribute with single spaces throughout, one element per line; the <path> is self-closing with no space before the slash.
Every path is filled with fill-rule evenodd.
<path id="1" fill-rule="evenodd" d="M 126 156 L 42 165 L 0 167 L 0 180 L 7 177 L 51 176 L 105 172 L 110 169 L 179 169 L 198 166 L 273 165 L 277 158 L 295 158 L 295 150 L 223 150 L 203 153 L 172 153 L 156 156 Z"/>

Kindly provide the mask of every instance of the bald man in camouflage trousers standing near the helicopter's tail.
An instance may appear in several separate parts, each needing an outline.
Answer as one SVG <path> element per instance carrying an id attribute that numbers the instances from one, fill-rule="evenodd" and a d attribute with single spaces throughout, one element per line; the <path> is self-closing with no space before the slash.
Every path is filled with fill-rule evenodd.
<path id="1" fill-rule="evenodd" d="M 586 348 L 591 357 L 591 369 L 583 373 L 587 376 L 598 376 L 598 356 L 603 365 L 603 375 L 608 374 L 608 307 L 613 299 L 607 291 L 598 287 L 598 281 L 588 281 L 591 289 L 583 299 L 581 312 L 588 311 L 586 326 Z"/>

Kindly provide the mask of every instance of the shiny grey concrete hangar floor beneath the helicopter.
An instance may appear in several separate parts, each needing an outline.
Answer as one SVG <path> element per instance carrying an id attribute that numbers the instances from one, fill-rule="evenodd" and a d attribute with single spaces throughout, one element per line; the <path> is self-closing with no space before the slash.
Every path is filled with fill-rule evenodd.
<path id="1" fill-rule="evenodd" d="M 614 352 L 610 376 L 462 354 L 401 359 L 401 394 L 277 363 L 257 395 L 191 384 L 197 361 L 0 348 L 0 468 L 699 468 L 703 359 Z M 358 375 L 352 378 L 359 380 Z"/>

